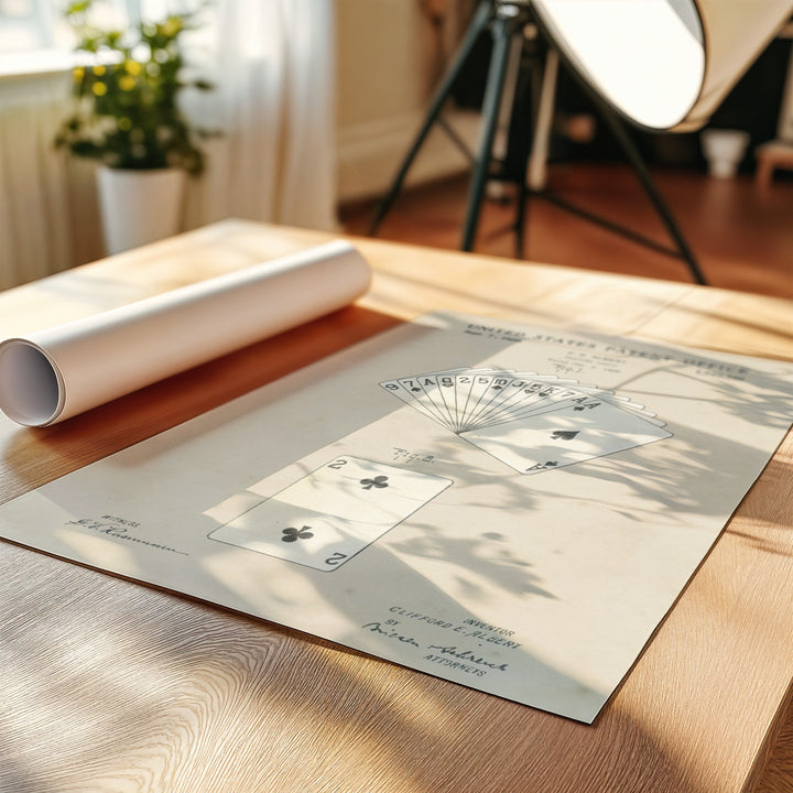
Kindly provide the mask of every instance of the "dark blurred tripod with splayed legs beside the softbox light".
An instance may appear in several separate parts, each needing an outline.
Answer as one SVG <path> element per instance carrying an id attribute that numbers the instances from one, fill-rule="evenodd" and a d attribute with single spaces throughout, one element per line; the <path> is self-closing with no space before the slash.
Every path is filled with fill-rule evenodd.
<path id="1" fill-rule="evenodd" d="M 536 189 L 533 185 L 526 184 L 525 174 L 529 164 L 530 140 L 532 138 L 539 140 L 539 138 L 543 134 L 543 130 L 537 127 L 537 115 L 542 112 L 541 105 L 543 104 L 542 97 L 537 99 L 537 88 L 541 88 L 543 85 L 543 77 L 546 75 L 548 63 L 553 63 L 555 66 L 555 58 L 558 57 L 556 52 L 550 48 L 546 36 L 537 35 L 532 40 L 528 40 L 524 36 L 523 31 L 530 23 L 536 24 L 531 10 L 531 0 L 480 0 L 465 35 L 463 36 L 463 41 L 460 42 L 457 53 L 431 100 L 430 108 L 423 123 L 413 140 L 412 145 L 405 154 L 390 189 L 377 207 L 374 218 L 369 229 L 370 233 L 377 233 L 380 224 L 390 211 L 397 196 L 402 189 L 403 182 L 410 166 L 413 163 L 413 160 L 421 150 L 424 140 L 433 126 L 438 122 L 449 134 L 453 142 L 463 148 L 465 153 L 472 161 L 472 173 L 468 189 L 468 203 L 460 241 L 461 250 L 470 251 L 474 249 L 487 182 L 490 180 L 501 182 L 514 181 L 518 184 L 518 200 L 515 206 L 517 216 L 514 222 L 515 256 L 518 258 L 523 258 L 526 200 L 528 197 L 532 195 L 537 198 L 548 200 L 567 211 L 574 213 L 578 217 L 604 226 L 610 231 L 622 235 L 634 242 L 644 245 L 667 256 L 682 259 L 687 264 L 692 279 L 696 283 L 707 283 L 699 270 L 691 248 L 686 243 L 674 217 L 672 216 L 672 213 L 659 193 L 658 187 L 655 186 L 655 183 L 648 171 L 641 154 L 639 153 L 639 150 L 624 129 L 621 120 L 618 118 L 615 110 L 612 110 L 611 107 L 609 107 L 586 84 L 583 84 L 584 89 L 589 95 L 598 115 L 608 124 L 611 133 L 619 143 L 641 186 L 643 187 L 644 193 L 654 206 L 675 247 L 667 248 L 662 246 L 643 235 L 632 231 L 631 229 L 628 229 L 609 219 L 599 217 L 588 210 L 582 209 L 558 196 L 554 196 L 545 189 Z M 481 105 L 482 130 L 479 142 L 479 152 L 478 155 L 474 157 L 470 152 L 465 149 L 464 144 L 454 131 L 443 122 L 441 112 L 452 94 L 452 89 L 458 75 L 465 67 L 468 58 L 471 56 L 477 40 L 488 29 L 490 29 L 492 35 L 492 53 L 490 56 L 487 83 Z M 540 33 L 542 33 L 541 30 Z M 554 56 L 553 62 L 550 61 L 550 55 Z M 518 151 L 513 152 L 513 154 L 518 165 L 515 167 L 515 173 L 510 176 L 503 172 L 503 162 L 499 163 L 493 159 L 492 150 L 502 101 L 504 98 L 504 85 L 510 63 L 514 64 L 519 58 L 521 58 L 521 56 L 526 56 L 525 59 L 530 64 L 531 84 L 534 88 L 534 90 L 532 90 L 532 107 L 530 108 L 532 124 L 531 129 L 524 130 L 523 134 L 515 135 L 519 142 L 517 143 Z M 524 91 L 517 90 L 514 94 L 511 113 L 512 122 L 517 122 L 519 124 L 518 129 L 520 129 L 520 119 L 524 118 L 526 115 L 525 112 L 519 112 L 524 109 L 522 108 L 523 104 Z M 547 102 L 545 102 L 545 105 L 547 105 Z M 547 115 L 547 108 L 545 108 L 545 111 Z M 500 171 L 499 166 L 501 166 Z"/>

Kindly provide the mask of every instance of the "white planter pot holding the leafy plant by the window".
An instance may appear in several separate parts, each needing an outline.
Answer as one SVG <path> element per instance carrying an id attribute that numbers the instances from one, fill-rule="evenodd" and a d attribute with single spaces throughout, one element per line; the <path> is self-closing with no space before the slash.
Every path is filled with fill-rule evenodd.
<path id="1" fill-rule="evenodd" d="M 185 172 L 97 169 L 105 248 L 109 254 L 178 233 Z"/>

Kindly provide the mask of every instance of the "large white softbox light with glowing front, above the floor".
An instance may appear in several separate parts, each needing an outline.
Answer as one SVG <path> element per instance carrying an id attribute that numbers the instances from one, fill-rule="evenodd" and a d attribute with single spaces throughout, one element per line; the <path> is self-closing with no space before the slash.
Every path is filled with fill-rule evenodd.
<path id="1" fill-rule="evenodd" d="M 790 0 L 533 0 L 548 37 L 611 107 L 651 130 L 703 127 L 790 19 Z"/>

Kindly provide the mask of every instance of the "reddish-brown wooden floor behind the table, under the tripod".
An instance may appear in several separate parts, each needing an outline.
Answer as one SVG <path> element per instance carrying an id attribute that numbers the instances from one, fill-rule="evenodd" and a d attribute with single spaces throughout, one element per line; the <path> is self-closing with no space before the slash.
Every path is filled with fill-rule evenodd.
<path id="1" fill-rule="evenodd" d="M 655 171 L 706 280 L 713 286 L 793 298 L 793 180 L 776 177 L 763 191 L 751 174 L 716 180 L 691 171 Z M 589 211 L 671 247 L 665 229 L 627 167 L 557 164 L 550 189 Z M 405 191 L 378 237 L 434 248 L 459 249 L 468 177 Z M 367 235 L 374 202 L 341 208 L 348 233 Z M 480 215 L 476 251 L 514 257 L 512 200 L 488 199 Z M 685 263 L 639 246 L 545 200 L 530 202 L 525 259 L 670 281 L 691 279 Z"/>

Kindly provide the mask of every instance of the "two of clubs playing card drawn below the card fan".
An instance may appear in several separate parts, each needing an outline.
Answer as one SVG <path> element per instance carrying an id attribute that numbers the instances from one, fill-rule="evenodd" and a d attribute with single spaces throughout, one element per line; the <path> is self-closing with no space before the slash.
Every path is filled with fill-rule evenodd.
<path id="1" fill-rule="evenodd" d="M 449 485 L 442 477 L 340 455 L 209 536 L 332 572 Z"/>

